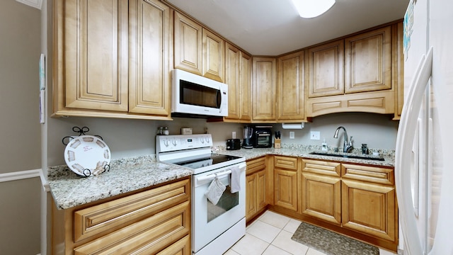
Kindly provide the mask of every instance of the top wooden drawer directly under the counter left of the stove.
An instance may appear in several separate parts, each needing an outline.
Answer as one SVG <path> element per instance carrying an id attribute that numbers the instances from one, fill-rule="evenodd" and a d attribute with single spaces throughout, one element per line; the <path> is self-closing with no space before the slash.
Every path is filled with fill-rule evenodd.
<path id="1" fill-rule="evenodd" d="M 190 198 L 190 180 L 185 179 L 132 196 L 101 203 L 74 212 L 74 242 L 113 232 Z"/>

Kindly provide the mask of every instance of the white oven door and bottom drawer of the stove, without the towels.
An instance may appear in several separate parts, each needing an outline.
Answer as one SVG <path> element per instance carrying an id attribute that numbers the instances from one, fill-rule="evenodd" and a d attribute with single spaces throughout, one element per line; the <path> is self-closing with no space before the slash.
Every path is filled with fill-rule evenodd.
<path id="1" fill-rule="evenodd" d="M 228 170 L 234 166 L 241 169 L 241 191 L 232 194 L 229 186 L 231 175 Z M 207 200 L 205 191 L 216 174 L 226 186 L 226 190 L 217 205 L 214 205 Z M 192 249 L 197 252 L 246 216 L 246 163 L 194 175 L 192 198 Z M 245 225 L 243 228 L 245 229 Z"/>

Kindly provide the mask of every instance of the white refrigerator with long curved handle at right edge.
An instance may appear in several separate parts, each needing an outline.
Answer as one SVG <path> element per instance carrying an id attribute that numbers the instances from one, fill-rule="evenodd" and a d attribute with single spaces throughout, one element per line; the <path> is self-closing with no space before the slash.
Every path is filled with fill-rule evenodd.
<path id="1" fill-rule="evenodd" d="M 453 0 L 411 0 L 395 155 L 403 254 L 453 254 Z"/>

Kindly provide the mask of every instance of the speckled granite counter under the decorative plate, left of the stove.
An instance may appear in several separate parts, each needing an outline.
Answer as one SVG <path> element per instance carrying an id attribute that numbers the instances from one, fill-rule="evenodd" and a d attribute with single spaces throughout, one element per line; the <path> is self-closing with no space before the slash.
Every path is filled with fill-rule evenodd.
<path id="1" fill-rule="evenodd" d="M 59 209 L 68 209 L 103 198 L 110 198 L 140 188 L 147 188 L 190 176 L 190 169 L 156 162 L 155 157 L 117 159 L 110 171 L 82 178 L 66 165 L 47 169 L 50 192 Z"/>

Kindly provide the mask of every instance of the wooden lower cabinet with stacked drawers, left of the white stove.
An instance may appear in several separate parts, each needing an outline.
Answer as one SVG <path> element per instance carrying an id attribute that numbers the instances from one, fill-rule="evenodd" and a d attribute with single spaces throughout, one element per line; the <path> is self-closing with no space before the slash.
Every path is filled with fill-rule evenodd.
<path id="1" fill-rule="evenodd" d="M 52 254 L 190 253 L 190 179 L 52 209 Z"/>

